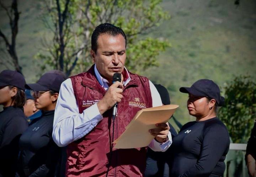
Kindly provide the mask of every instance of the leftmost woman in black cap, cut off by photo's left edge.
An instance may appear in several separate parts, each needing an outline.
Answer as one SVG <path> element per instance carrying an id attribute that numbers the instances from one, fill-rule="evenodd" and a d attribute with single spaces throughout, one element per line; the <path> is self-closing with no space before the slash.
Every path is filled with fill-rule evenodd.
<path id="1" fill-rule="evenodd" d="M 15 176 L 18 140 L 27 129 L 28 123 L 23 113 L 25 104 L 24 77 L 12 70 L 0 73 L 0 176 Z"/>

